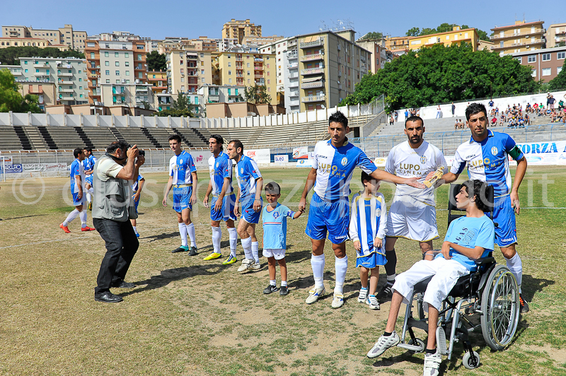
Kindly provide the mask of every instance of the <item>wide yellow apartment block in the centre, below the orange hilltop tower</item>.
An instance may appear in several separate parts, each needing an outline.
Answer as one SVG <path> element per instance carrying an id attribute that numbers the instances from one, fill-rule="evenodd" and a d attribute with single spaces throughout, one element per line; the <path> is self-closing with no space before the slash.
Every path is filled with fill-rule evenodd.
<path id="1" fill-rule="evenodd" d="M 277 105 L 277 67 L 275 54 L 263 54 L 249 49 L 232 49 L 216 57 L 220 86 L 265 86 L 271 104 Z"/>

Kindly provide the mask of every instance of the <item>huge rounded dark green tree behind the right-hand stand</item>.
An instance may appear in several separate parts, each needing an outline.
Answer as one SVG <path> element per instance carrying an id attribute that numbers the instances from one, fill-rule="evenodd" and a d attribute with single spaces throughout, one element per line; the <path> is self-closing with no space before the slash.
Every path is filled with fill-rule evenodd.
<path id="1" fill-rule="evenodd" d="M 389 109 L 422 107 L 440 102 L 455 102 L 517 95 L 538 90 L 531 69 L 510 56 L 477 51 L 470 45 L 442 44 L 410 51 L 362 78 L 346 104 L 371 102 L 386 95 Z"/>

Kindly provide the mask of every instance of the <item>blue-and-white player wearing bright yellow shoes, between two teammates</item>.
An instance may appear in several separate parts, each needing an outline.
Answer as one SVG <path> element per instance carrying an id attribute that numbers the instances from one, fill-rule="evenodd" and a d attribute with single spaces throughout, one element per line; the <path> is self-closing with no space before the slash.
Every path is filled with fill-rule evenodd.
<path id="1" fill-rule="evenodd" d="M 234 226 L 236 216 L 234 215 L 234 205 L 236 204 L 236 194 L 232 187 L 232 160 L 228 154 L 224 153 L 224 139 L 219 134 L 211 134 L 208 141 L 209 150 L 212 153 L 208 159 L 210 182 L 208 183 L 207 194 L 204 196 L 202 204 L 209 207 L 209 196 L 212 194 L 210 203 L 210 221 L 212 225 L 212 246 L 214 250 L 204 261 L 218 259 L 222 256 L 220 242 L 222 240 L 222 230 L 220 221 L 226 222 L 228 237 L 230 240 L 230 257 L 222 264 L 229 265 L 237 261 L 236 245 L 238 244 L 238 233 Z"/>

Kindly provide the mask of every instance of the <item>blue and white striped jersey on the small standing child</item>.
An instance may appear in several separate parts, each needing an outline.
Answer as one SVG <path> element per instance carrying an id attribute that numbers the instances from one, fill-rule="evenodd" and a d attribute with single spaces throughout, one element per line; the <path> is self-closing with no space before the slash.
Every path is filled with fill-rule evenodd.
<path id="1" fill-rule="evenodd" d="M 358 257 L 368 256 L 373 252 L 385 256 L 385 247 L 374 248 L 374 239 L 385 239 L 387 224 L 387 206 L 383 194 L 364 197 L 357 193 L 352 197 L 352 215 L 350 216 L 350 239 L 362 245 Z"/>

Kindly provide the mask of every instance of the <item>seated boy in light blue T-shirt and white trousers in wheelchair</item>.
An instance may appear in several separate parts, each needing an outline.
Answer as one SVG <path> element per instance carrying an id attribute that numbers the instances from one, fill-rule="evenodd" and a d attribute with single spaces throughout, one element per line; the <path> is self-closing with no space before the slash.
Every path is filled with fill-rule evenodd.
<path id="1" fill-rule="evenodd" d="M 429 328 L 424 353 L 424 375 L 439 374 L 441 353 L 437 351 L 435 333 L 442 302 L 456 285 L 458 278 L 475 270 L 474 260 L 486 257 L 493 250 L 495 226 L 492 220 L 485 216 L 485 212 L 490 211 L 485 197 L 486 189 L 487 184 L 480 180 L 463 182 L 456 195 L 456 206 L 460 210 L 466 210 L 466 216 L 450 223 L 441 251 L 437 252 L 432 261 L 417 262 L 395 278 L 385 332 L 367 353 L 368 358 L 376 358 L 400 342 L 398 334 L 395 333 L 395 322 L 401 303 L 410 304 L 415 284 L 432 276 L 423 298 L 424 311 L 428 312 Z"/>

